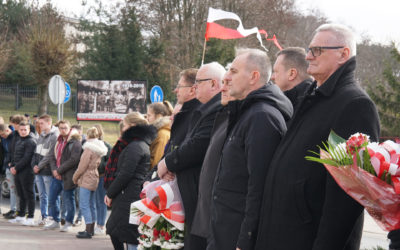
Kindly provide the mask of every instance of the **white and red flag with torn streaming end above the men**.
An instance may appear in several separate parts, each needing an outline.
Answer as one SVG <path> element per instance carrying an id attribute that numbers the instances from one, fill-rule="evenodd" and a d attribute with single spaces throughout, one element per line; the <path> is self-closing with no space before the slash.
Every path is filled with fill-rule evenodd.
<path id="1" fill-rule="evenodd" d="M 222 25 L 215 23 L 215 21 L 222 19 L 231 19 L 239 22 L 239 25 L 236 30 L 225 28 Z M 256 34 L 258 41 L 260 41 L 261 47 L 267 50 L 261 40 L 261 34 L 265 35 L 267 40 L 271 40 L 275 43 L 275 45 L 282 50 L 282 47 L 279 45 L 276 36 L 274 35 L 272 39 L 268 39 L 268 34 L 265 30 L 259 30 L 257 27 L 251 29 L 243 28 L 242 20 L 240 20 L 239 16 L 232 12 L 227 12 L 219 9 L 209 8 L 208 9 L 208 18 L 207 18 L 207 28 L 205 38 L 208 41 L 209 38 L 218 38 L 218 39 L 237 39 L 247 37 L 249 35 Z"/>

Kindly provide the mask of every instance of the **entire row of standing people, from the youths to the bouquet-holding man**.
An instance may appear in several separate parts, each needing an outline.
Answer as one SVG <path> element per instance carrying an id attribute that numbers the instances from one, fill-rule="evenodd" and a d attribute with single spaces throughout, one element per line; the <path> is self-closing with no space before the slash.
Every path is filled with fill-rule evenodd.
<path id="1" fill-rule="evenodd" d="M 67 121 L 55 129 L 44 115 L 35 139 L 24 119 L 12 117 L 9 127 L 0 126 L 17 190 L 7 214 L 33 223 L 36 174 L 45 229 L 60 228 L 61 194 L 61 230 L 72 225 L 79 186 L 86 230 L 77 237 L 91 238 L 95 224 L 103 229 L 106 204 L 114 248 L 136 249 L 131 203 L 149 181 L 177 178 L 185 249 L 358 250 L 363 207 L 321 165 L 305 160 L 331 130 L 378 141 L 378 112 L 356 83 L 355 58 L 354 34 L 337 24 L 320 26 L 307 50 L 281 50 L 273 66 L 266 52 L 239 49 L 227 69 L 212 62 L 183 70 L 175 107 L 151 104 L 147 118 L 129 113 L 112 149 L 99 126 L 83 143 Z M 391 249 L 400 249 L 399 234 L 389 234 Z"/>

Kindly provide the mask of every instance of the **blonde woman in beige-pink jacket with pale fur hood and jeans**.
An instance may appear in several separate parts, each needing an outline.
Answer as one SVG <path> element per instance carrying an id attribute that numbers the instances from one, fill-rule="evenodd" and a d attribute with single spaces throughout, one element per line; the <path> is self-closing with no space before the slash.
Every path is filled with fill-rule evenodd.
<path id="1" fill-rule="evenodd" d="M 99 183 L 99 172 L 101 158 L 107 154 L 107 147 L 99 139 L 99 132 L 96 127 L 87 131 L 87 141 L 83 144 L 83 153 L 75 171 L 72 181 L 79 188 L 79 207 L 85 219 L 86 230 L 79 232 L 77 238 L 90 239 L 94 234 L 96 220 L 94 192 Z"/>

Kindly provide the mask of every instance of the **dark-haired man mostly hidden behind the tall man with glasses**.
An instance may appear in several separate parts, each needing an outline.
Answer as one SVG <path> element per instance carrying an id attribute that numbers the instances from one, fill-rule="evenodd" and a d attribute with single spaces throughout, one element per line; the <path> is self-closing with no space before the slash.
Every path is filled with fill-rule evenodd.
<path id="1" fill-rule="evenodd" d="M 293 110 L 312 84 L 307 68 L 306 51 L 303 48 L 289 47 L 276 54 L 271 80 L 290 99 Z"/>

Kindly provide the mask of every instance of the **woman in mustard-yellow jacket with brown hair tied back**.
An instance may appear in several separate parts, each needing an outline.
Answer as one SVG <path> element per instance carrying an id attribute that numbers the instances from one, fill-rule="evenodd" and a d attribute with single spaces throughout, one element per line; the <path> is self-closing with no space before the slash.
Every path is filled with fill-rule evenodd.
<path id="1" fill-rule="evenodd" d="M 171 136 L 172 105 L 168 101 L 155 102 L 147 108 L 147 120 L 157 129 L 157 137 L 150 146 L 151 168 L 156 166 L 164 155 L 165 145 Z"/>

